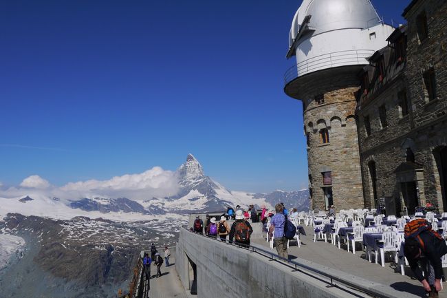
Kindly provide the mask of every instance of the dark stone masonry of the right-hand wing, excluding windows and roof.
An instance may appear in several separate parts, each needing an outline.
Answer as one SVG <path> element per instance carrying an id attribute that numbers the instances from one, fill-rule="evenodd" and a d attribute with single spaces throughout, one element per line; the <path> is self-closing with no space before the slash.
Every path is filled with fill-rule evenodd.
<path id="1" fill-rule="evenodd" d="M 419 41 L 417 16 L 425 11 L 428 20 L 428 38 Z M 368 207 L 374 207 L 371 173 L 368 164 L 375 162 L 376 190 L 378 198 L 393 198 L 400 215 L 406 206 L 404 183 L 415 182 L 417 204 L 431 202 L 445 211 L 446 195 L 441 189 L 441 174 L 438 172 L 439 157 L 436 151 L 447 145 L 446 101 L 446 1 L 417 1 L 406 12 L 407 48 L 405 67 L 400 75 L 384 85 L 375 83 L 377 94 L 367 104 L 360 100 L 358 138 L 364 181 L 364 198 Z M 391 51 L 391 57 L 393 51 Z M 392 65 L 388 65 L 389 70 Z M 424 84 L 424 72 L 435 70 L 436 97 L 428 100 Z M 406 90 L 409 114 L 402 116 L 397 93 Z M 378 107 L 386 107 L 387 127 L 380 124 Z M 361 109 L 359 109 L 361 107 Z M 369 116 L 371 135 L 367 136 L 364 116 Z M 408 162 L 408 149 L 414 153 L 414 162 Z M 414 210 L 409 210 L 414 213 Z"/>

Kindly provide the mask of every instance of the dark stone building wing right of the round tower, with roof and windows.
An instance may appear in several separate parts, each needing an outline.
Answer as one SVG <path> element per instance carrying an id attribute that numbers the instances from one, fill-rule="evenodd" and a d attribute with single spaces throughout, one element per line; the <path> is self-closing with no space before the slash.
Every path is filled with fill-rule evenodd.
<path id="1" fill-rule="evenodd" d="M 407 25 L 360 73 L 356 118 L 365 206 L 447 211 L 447 3 L 412 1 Z"/>

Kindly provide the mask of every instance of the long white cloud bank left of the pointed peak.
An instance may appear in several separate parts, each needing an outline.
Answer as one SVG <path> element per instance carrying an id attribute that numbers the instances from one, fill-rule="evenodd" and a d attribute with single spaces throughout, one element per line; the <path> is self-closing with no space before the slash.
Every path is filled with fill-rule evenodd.
<path id="1" fill-rule="evenodd" d="M 175 172 L 153 167 L 143 173 L 116 176 L 109 180 L 69 182 L 63 187 L 54 187 L 39 175 L 32 175 L 25 178 L 19 187 L 0 190 L 0 197 L 16 198 L 22 195 L 32 197 L 34 194 L 63 200 L 93 197 L 144 200 L 175 195 L 178 190 L 179 184 Z"/>

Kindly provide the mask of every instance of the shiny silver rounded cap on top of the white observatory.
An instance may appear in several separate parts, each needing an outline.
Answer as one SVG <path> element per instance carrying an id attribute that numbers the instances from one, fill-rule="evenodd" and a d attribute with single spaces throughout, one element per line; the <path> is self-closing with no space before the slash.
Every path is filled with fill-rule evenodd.
<path id="1" fill-rule="evenodd" d="M 308 15 L 312 16 L 308 26 L 315 30 L 313 35 L 347 28 L 366 29 L 380 22 L 369 0 L 304 0 L 292 21 L 289 46 Z"/>

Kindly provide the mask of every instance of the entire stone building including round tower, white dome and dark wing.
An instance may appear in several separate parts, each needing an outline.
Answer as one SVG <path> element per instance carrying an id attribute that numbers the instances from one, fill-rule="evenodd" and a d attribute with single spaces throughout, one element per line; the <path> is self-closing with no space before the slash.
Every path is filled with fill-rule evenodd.
<path id="1" fill-rule="evenodd" d="M 369 1 L 303 1 L 284 89 L 303 101 L 314 209 L 447 211 L 446 7 L 411 1 L 395 29 Z"/>

